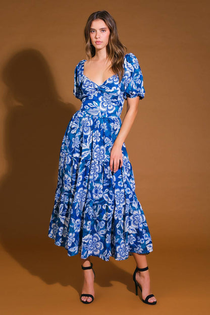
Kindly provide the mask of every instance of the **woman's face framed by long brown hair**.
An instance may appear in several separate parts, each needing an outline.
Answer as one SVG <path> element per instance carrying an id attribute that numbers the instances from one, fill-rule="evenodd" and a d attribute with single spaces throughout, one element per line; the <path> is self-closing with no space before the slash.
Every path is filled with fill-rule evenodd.
<path id="1" fill-rule="evenodd" d="M 90 41 L 95 49 L 101 49 L 109 43 L 110 30 L 107 24 L 100 19 L 92 21 L 90 25 Z"/>

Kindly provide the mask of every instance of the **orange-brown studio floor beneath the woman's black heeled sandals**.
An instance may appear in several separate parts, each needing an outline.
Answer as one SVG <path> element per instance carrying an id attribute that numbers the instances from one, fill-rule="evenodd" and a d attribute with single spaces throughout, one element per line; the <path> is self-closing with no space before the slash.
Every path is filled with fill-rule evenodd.
<path id="1" fill-rule="evenodd" d="M 82 272 L 79 255 L 69 257 L 65 248 L 49 239 L 48 250 L 1 248 L 1 314 L 63 315 L 88 309 L 91 314 L 208 314 L 208 252 L 159 249 L 147 255 L 155 305 L 146 305 L 134 293 L 132 256 L 124 261 L 92 257 L 95 299 L 80 302 Z"/>

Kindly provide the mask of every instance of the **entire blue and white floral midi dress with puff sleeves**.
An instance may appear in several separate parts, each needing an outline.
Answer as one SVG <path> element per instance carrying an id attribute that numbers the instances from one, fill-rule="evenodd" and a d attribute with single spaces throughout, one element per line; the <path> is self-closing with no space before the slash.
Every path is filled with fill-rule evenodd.
<path id="1" fill-rule="evenodd" d="M 124 76 L 101 85 L 87 78 L 81 60 L 74 73 L 74 95 L 81 108 L 71 118 L 60 150 L 58 184 L 48 237 L 81 258 L 110 256 L 124 260 L 153 250 L 125 143 L 123 165 L 114 173 L 110 153 L 121 128 L 127 97 L 144 97 L 143 76 L 136 56 L 124 57 Z"/>

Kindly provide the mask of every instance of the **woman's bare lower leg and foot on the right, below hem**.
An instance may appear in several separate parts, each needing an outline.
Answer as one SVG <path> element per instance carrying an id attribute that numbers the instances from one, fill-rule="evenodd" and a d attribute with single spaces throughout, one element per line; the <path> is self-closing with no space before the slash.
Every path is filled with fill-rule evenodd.
<path id="1" fill-rule="evenodd" d="M 138 268 L 147 267 L 147 260 L 145 254 L 133 253 L 134 259 L 136 260 L 136 266 Z M 148 294 L 151 294 L 150 291 L 150 278 L 149 270 L 137 271 L 136 272 L 136 281 L 140 284 L 142 288 L 142 298 L 145 299 Z M 155 297 L 152 296 L 148 299 L 148 302 L 156 301 Z"/>

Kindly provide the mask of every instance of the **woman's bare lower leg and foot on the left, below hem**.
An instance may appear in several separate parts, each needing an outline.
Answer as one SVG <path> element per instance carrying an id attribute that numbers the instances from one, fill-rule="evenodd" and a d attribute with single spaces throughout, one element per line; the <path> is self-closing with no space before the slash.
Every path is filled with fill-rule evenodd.
<path id="1" fill-rule="evenodd" d="M 81 257 L 81 253 L 80 253 L 80 257 Z M 83 267 L 89 267 L 90 266 L 90 256 L 87 257 L 86 259 L 82 259 L 81 258 L 81 264 Z M 84 283 L 83 283 L 83 287 L 82 287 L 82 291 L 81 294 L 85 294 L 85 293 L 89 293 L 92 294 L 94 296 L 95 292 L 94 292 L 94 274 L 92 269 L 86 269 L 83 270 L 84 272 Z M 82 296 L 81 299 L 83 301 L 88 301 L 90 302 L 92 300 L 92 298 L 90 296 Z"/>

